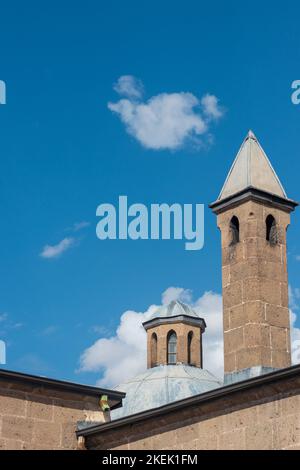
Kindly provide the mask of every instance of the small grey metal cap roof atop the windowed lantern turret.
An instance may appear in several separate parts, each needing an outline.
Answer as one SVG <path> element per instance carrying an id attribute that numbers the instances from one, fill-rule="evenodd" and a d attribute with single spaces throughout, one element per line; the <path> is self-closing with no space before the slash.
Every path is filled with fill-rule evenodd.
<path id="1" fill-rule="evenodd" d="M 143 325 L 147 329 L 154 323 L 170 323 L 170 321 L 173 321 L 175 318 L 185 320 L 191 324 L 198 324 L 203 331 L 205 330 L 206 324 L 203 318 L 200 318 L 192 307 L 179 300 L 172 300 L 168 305 L 159 307 Z"/>

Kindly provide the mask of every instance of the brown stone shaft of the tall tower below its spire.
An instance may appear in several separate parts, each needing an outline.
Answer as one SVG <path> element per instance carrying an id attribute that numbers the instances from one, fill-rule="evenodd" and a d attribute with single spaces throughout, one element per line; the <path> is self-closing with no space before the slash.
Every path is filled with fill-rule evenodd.
<path id="1" fill-rule="evenodd" d="M 273 215 L 278 240 L 266 240 Z M 240 242 L 230 245 L 230 220 L 238 217 Z M 222 233 L 225 373 L 253 366 L 291 364 L 286 229 L 290 215 L 248 201 L 218 215 Z"/>

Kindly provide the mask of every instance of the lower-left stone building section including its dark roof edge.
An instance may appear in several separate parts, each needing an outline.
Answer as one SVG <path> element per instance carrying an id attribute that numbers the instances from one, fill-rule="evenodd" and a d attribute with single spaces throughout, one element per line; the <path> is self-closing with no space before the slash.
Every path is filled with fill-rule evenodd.
<path id="1" fill-rule="evenodd" d="M 0 370 L 0 450 L 75 450 L 80 426 L 104 423 L 124 393 Z"/>

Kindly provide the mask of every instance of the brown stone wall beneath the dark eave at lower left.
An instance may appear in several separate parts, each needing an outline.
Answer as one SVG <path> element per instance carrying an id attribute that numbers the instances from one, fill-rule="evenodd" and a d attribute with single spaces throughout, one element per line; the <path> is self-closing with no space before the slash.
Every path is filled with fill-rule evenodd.
<path id="1" fill-rule="evenodd" d="M 97 397 L 0 380 L 0 450 L 76 449 L 84 420 L 104 421 Z"/>

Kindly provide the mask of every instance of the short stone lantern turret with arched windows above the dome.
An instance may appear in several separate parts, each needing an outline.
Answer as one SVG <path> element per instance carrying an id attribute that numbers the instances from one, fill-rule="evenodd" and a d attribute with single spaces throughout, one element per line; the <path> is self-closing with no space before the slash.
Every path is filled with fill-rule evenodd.
<path id="1" fill-rule="evenodd" d="M 148 321 L 147 367 L 187 364 L 202 368 L 202 333 L 205 321 L 188 305 L 172 301 Z"/>

